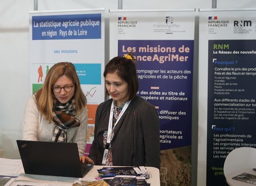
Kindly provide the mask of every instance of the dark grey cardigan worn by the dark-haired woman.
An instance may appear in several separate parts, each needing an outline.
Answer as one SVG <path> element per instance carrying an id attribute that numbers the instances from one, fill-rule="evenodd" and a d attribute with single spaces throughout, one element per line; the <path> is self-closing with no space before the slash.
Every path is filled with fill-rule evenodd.
<path id="1" fill-rule="evenodd" d="M 96 111 L 94 140 L 89 157 L 101 165 L 112 99 Z M 160 169 L 159 119 L 155 107 L 136 96 L 118 121 L 111 141 L 113 166 L 153 166 Z"/>

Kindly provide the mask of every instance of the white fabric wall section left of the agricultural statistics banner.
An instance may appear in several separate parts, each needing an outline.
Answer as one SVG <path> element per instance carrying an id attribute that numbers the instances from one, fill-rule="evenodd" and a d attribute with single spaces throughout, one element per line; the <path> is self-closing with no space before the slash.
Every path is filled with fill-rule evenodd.
<path id="1" fill-rule="evenodd" d="M 29 95 L 28 11 L 31 0 L 0 1 L 0 149 L 17 158 L 25 102 Z"/>

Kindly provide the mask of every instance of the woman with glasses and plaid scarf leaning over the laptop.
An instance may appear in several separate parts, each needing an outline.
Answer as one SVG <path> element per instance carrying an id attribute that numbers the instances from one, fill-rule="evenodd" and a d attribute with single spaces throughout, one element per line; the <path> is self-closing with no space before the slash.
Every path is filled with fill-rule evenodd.
<path id="1" fill-rule="evenodd" d="M 87 135 L 86 98 L 80 87 L 75 66 L 69 62 L 53 65 L 43 87 L 27 101 L 22 139 L 77 143 L 81 161 Z"/>

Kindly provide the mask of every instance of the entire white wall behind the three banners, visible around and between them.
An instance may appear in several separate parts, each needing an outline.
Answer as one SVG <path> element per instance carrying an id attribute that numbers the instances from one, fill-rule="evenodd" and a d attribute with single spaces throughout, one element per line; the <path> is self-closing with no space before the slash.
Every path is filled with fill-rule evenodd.
<path id="1" fill-rule="evenodd" d="M 38 10 L 83 8 L 117 9 L 118 0 L 38 0 Z M 123 0 L 123 9 L 211 8 L 212 0 Z M 252 8 L 255 0 L 217 0 L 217 8 Z M 16 140 L 21 139 L 23 111 L 29 92 L 28 11 L 33 0 L 0 0 L 0 149 L 7 158 L 20 158 Z M 109 46 L 106 21 L 106 49 Z M 197 46 L 198 18 L 195 29 L 192 154 L 197 161 Z M 106 50 L 106 60 L 108 51 Z M 204 134 L 203 136 L 206 136 Z M 194 145 L 193 145 L 194 144 Z M 193 158 L 193 157 L 192 157 Z M 206 162 L 205 162 L 206 163 Z M 195 165 L 195 164 L 194 164 Z M 193 179 L 193 176 L 192 176 Z M 198 181 L 200 186 L 200 181 Z M 192 181 L 192 185 L 195 185 Z M 197 184 L 198 185 L 198 184 Z"/>

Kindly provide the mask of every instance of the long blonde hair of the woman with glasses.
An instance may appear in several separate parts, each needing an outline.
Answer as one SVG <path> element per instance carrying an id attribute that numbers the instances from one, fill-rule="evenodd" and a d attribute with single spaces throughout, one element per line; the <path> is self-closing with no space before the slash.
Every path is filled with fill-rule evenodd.
<path id="1" fill-rule="evenodd" d="M 53 119 L 53 100 L 55 99 L 53 96 L 52 86 L 62 75 L 67 76 L 75 85 L 73 98 L 75 99 L 76 115 L 79 114 L 86 106 L 86 98 L 81 90 L 75 66 L 70 62 L 56 63 L 48 71 L 43 87 L 35 93 L 37 108 L 42 113 L 43 117 L 49 122 Z"/>

